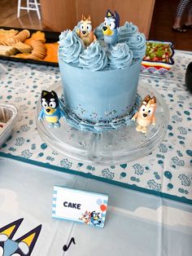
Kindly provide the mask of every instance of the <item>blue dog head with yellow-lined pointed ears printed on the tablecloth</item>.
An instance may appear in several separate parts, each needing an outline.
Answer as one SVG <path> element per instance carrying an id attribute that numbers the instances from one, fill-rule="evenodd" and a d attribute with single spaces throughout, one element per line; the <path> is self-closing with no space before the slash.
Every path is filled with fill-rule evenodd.
<path id="1" fill-rule="evenodd" d="M 13 240 L 15 232 L 20 227 L 24 218 L 20 218 L 13 223 L 9 223 L 0 228 L 0 255 L 1 256 L 29 256 L 33 251 L 33 247 L 37 242 L 37 238 L 41 232 L 41 225 L 35 227 L 30 232 L 21 236 L 17 240 Z"/>

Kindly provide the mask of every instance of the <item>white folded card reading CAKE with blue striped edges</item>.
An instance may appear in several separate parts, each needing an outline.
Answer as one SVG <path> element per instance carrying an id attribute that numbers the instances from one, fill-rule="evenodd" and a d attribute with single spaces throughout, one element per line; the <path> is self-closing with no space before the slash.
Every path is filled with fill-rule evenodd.
<path id="1" fill-rule="evenodd" d="M 107 202 L 105 194 L 55 186 L 52 217 L 104 227 Z"/>

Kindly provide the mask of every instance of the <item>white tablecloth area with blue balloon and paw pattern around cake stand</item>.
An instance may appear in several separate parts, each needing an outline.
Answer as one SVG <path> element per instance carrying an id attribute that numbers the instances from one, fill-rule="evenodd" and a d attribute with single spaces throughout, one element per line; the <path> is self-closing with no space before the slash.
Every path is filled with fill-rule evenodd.
<path id="1" fill-rule="evenodd" d="M 175 65 L 165 77 L 140 77 L 164 97 L 170 111 L 167 135 L 147 157 L 118 166 L 93 166 L 63 157 L 39 137 L 36 104 L 41 90 L 60 80 L 59 68 L 1 61 L 0 101 L 19 109 L 11 138 L 0 156 L 11 157 L 124 188 L 192 203 L 192 95 L 185 90 L 185 69 L 192 55 L 177 52 Z"/>

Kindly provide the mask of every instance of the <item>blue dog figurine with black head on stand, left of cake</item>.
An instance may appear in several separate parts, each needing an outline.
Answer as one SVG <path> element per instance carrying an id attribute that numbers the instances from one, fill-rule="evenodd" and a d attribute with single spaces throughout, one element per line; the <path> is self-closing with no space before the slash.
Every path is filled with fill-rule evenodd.
<path id="1" fill-rule="evenodd" d="M 54 90 L 41 92 L 41 113 L 39 114 L 39 120 L 46 120 L 50 128 L 59 128 L 60 117 L 65 118 L 65 113 L 59 108 L 58 95 Z"/>

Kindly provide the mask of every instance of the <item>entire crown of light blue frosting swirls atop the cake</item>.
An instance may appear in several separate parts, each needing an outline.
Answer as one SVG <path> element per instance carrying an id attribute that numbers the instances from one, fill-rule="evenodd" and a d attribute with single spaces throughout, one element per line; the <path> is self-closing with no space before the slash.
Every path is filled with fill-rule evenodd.
<path id="1" fill-rule="evenodd" d="M 138 33 L 137 26 L 126 21 L 118 31 L 118 43 L 107 52 L 103 46 L 103 23 L 95 30 L 98 41 L 87 48 L 76 34 L 80 23 L 71 31 L 66 30 L 59 36 L 59 56 L 68 64 L 78 64 L 79 68 L 91 71 L 103 68 L 124 69 L 133 63 L 133 59 L 142 59 L 146 52 L 146 38 Z M 127 46 L 126 46 L 127 44 Z"/>

